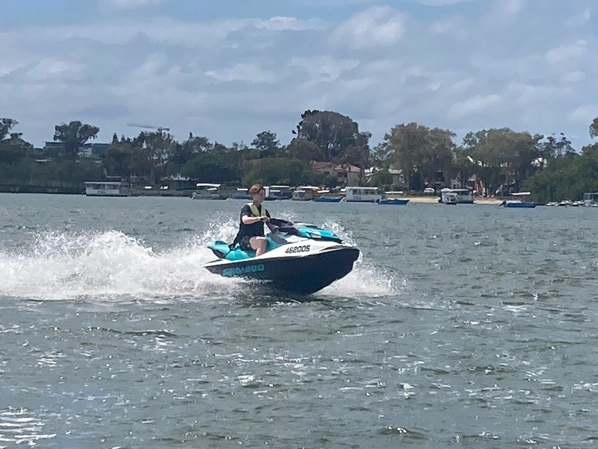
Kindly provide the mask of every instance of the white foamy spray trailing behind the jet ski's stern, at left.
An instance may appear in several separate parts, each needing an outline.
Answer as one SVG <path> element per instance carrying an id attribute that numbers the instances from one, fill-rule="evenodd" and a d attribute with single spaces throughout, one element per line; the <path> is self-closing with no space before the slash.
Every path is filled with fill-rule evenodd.
<path id="1" fill-rule="evenodd" d="M 80 296 L 206 296 L 234 280 L 210 274 L 207 248 L 188 242 L 155 253 L 118 231 L 38 235 L 23 253 L 0 253 L 0 295 L 36 299 Z"/>

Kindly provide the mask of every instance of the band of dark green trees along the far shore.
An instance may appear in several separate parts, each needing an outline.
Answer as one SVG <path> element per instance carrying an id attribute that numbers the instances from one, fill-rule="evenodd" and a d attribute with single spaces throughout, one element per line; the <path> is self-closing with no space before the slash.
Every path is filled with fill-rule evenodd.
<path id="1" fill-rule="evenodd" d="M 488 192 L 507 194 L 530 190 L 538 201 L 581 198 L 598 190 L 598 144 L 572 148 L 562 133 L 516 132 L 509 128 L 469 132 L 455 143 L 449 129 L 418 123 L 393 126 L 384 139 L 370 147 L 370 132 L 359 131 L 350 117 L 334 111 L 307 110 L 281 145 L 275 132 L 263 131 L 251 145 L 227 146 L 206 136 L 189 134 L 182 142 L 163 130 L 139 135 L 114 134 L 101 163 L 80 157 L 80 148 L 97 137 L 99 128 L 81 122 L 56 125 L 58 148 L 41 151 L 11 132 L 14 119 L 0 119 L 0 180 L 2 182 L 69 181 L 81 183 L 107 176 L 136 179 L 157 185 L 181 175 L 202 182 L 230 186 L 264 184 L 321 184 L 334 187 L 335 174 L 312 170 L 313 161 L 361 169 L 374 166 L 368 185 L 421 191 L 424 187 L 459 187 L 475 178 Z M 598 117 L 590 124 L 598 137 Z M 44 163 L 40 163 L 44 160 Z M 37 162 L 36 162 L 37 161 Z M 398 185 L 392 169 L 398 170 Z"/>

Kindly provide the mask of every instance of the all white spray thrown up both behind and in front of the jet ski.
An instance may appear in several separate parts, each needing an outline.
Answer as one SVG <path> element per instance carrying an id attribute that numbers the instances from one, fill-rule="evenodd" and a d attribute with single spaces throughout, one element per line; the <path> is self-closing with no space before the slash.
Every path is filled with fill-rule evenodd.
<path id="1" fill-rule="evenodd" d="M 344 241 L 350 233 L 326 223 Z M 20 251 L 0 250 L 0 296 L 39 300 L 100 298 L 155 300 L 168 297 L 230 298 L 243 280 L 211 274 L 203 264 L 214 259 L 206 246 L 232 241 L 237 223 L 211 223 L 179 247 L 154 251 L 123 232 L 49 232 L 33 236 Z M 359 257 L 355 269 L 322 290 L 324 296 L 371 298 L 396 294 L 392 276 L 380 274 Z"/>

